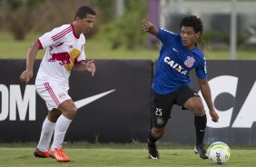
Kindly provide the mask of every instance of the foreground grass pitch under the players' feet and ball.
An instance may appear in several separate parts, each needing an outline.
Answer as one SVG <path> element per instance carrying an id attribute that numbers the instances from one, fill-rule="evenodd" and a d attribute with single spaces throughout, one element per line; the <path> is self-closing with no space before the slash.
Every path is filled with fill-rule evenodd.
<path id="1" fill-rule="evenodd" d="M 36 144 L 34 144 L 36 145 Z M 71 162 L 56 162 L 54 159 L 35 158 L 31 145 L 0 145 L 1 167 L 198 167 L 216 166 L 210 160 L 202 160 L 194 154 L 192 146 L 160 146 L 160 160 L 147 158 L 146 144 L 89 144 L 67 145 L 66 154 Z M 256 150 L 253 148 L 231 148 L 231 160 L 224 166 L 255 166 Z"/>

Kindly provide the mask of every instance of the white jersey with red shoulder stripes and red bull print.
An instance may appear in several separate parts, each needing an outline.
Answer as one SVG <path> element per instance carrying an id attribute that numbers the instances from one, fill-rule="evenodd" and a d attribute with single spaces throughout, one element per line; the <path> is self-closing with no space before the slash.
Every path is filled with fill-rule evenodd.
<path id="1" fill-rule="evenodd" d="M 84 34 L 77 36 L 74 34 L 73 25 L 62 25 L 43 34 L 37 42 L 42 49 L 46 48 L 46 51 L 35 83 L 45 81 L 68 83 L 73 65 L 85 60 Z"/>

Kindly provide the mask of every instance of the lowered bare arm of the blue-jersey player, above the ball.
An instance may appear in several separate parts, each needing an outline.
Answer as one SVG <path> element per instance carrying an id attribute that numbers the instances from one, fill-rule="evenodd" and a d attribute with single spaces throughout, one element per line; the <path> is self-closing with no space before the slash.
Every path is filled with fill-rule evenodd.
<path id="1" fill-rule="evenodd" d="M 215 109 L 214 109 L 214 106 L 212 103 L 212 93 L 211 93 L 209 83 L 208 83 L 207 79 L 199 79 L 198 82 L 200 85 L 200 90 L 202 92 L 202 96 L 210 110 L 210 115 L 212 116 L 212 121 L 216 123 L 219 120 L 219 115 L 218 115 L 218 113 L 215 112 Z"/>

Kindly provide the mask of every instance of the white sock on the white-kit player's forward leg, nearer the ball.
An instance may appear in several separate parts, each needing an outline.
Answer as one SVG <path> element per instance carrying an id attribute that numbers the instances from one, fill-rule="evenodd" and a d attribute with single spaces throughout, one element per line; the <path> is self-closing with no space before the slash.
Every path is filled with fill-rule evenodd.
<path id="1" fill-rule="evenodd" d="M 58 118 L 55 126 L 54 142 L 52 144 L 51 150 L 62 147 L 62 143 L 64 142 L 64 135 L 71 122 L 72 120 L 67 119 L 63 114 Z"/>

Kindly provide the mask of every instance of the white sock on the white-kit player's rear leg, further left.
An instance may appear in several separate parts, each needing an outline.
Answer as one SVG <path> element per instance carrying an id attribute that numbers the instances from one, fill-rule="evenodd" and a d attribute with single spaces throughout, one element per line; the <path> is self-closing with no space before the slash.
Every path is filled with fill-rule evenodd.
<path id="1" fill-rule="evenodd" d="M 52 123 L 48 120 L 47 116 L 44 119 L 44 123 L 42 126 L 42 132 L 40 135 L 40 140 L 37 145 L 37 148 L 42 151 L 42 152 L 47 152 L 49 144 L 51 142 L 53 133 L 54 133 L 54 128 L 55 128 L 56 123 Z"/>

